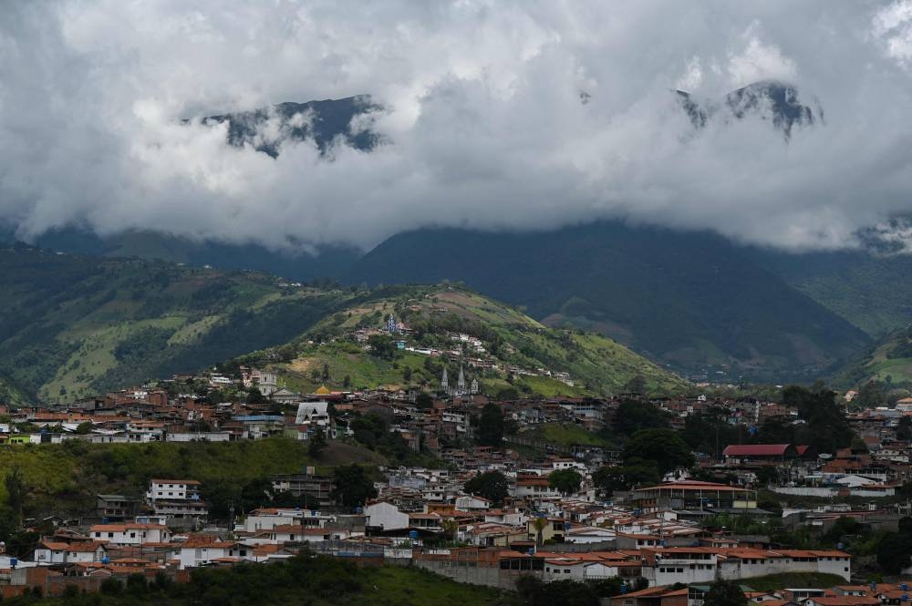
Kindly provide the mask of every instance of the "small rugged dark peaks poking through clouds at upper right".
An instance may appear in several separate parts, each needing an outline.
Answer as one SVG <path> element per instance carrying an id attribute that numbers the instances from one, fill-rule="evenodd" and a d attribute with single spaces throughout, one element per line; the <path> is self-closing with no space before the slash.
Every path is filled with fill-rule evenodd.
<path id="1" fill-rule="evenodd" d="M 782 131 L 785 139 L 792 136 L 796 127 L 812 126 L 824 122 L 824 109 L 812 98 L 802 102 L 798 89 L 775 80 L 762 80 L 739 88 L 721 100 L 698 99 L 683 90 L 676 91 L 681 108 L 687 113 L 694 128 L 705 128 L 710 121 L 757 118 L 772 123 Z"/>

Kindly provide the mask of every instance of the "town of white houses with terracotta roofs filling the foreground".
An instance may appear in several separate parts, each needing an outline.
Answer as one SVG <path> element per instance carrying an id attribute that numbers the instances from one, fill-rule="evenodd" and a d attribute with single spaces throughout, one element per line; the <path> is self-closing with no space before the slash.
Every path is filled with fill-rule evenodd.
<path id="1" fill-rule="evenodd" d="M 912 398 L 861 410 L 850 408 L 855 392 L 783 395 L 497 400 L 462 366 L 452 383 L 444 368 L 427 391 L 300 394 L 268 368 L 240 366 L 68 405 L 5 406 L 0 442 L 11 452 L 281 440 L 302 444 L 315 464 L 261 478 L 267 488 L 249 508 L 215 507 L 200 478 L 153 477 L 141 494 L 97 494 L 94 508 L 23 517 L 35 539 L 7 541 L 0 591 L 102 591 L 137 575 L 181 581 L 199 568 L 304 552 L 502 590 L 530 576 L 614 580 L 617 593 L 603 597 L 623 606 L 700 606 L 714 583 L 751 588 L 751 579 L 796 573 L 832 584 L 766 581 L 746 595 L 770 606 L 902 604 L 898 579 L 912 573 L 902 534 L 912 513 Z M 777 431 L 813 439 L 756 439 Z M 618 434 L 627 439 L 613 447 Z M 343 445 L 387 460 L 376 469 L 321 463 Z M 9 498 L 16 482 L 31 483 L 23 473 L 6 472 Z M 906 541 L 904 553 L 859 560 L 853 548 L 872 533 L 898 533 L 887 537 Z"/>

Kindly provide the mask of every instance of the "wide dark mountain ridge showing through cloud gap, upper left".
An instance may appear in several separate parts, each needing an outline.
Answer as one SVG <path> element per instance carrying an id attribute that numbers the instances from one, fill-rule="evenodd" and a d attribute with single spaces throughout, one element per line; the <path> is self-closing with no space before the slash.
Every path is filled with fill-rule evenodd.
<path id="1" fill-rule="evenodd" d="M 227 122 L 229 144 L 239 148 L 249 145 L 276 158 L 288 140 L 313 140 L 322 153 L 337 138 L 356 149 L 373 149 L 381 139 L 370 130 L 369 117 L 381 109 L 368 95 L 359 95 L 306 103 L 286 102 L 270 108 L 210 116 L 202 121 L 207 125 Z M 358 128 L 355 118 L 365 118 Z"/>

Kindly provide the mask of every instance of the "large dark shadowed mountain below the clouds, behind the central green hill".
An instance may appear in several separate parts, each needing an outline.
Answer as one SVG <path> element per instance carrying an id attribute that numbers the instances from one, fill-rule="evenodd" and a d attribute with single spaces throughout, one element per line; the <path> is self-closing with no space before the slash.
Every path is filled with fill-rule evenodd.
<path id="1" fill-rule="evenodd" d="M 871 343 L 710 233 L 601 222 L 541 233 L 393 236 L 351 282 L 465 282 L 552 326 L 609 335 L 682 373 L 813 380 Z"/>

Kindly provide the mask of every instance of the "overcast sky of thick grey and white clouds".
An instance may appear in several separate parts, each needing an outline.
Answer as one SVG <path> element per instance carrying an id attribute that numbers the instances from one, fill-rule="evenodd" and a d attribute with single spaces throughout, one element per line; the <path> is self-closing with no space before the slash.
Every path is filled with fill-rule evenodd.
<path id="1" fill-rule="evenodd" d="M 759 119 L 694 135 L 671 92 L 764 78 L 825 123 L 787 143 Z M 622 217 L 851 246 L 912 211 L 910 78 L 909 0 L 7 2 L 0 220 L 369 247 Z M 180 122 L 365 93 L 388 143 L 332 161 Z"/>

